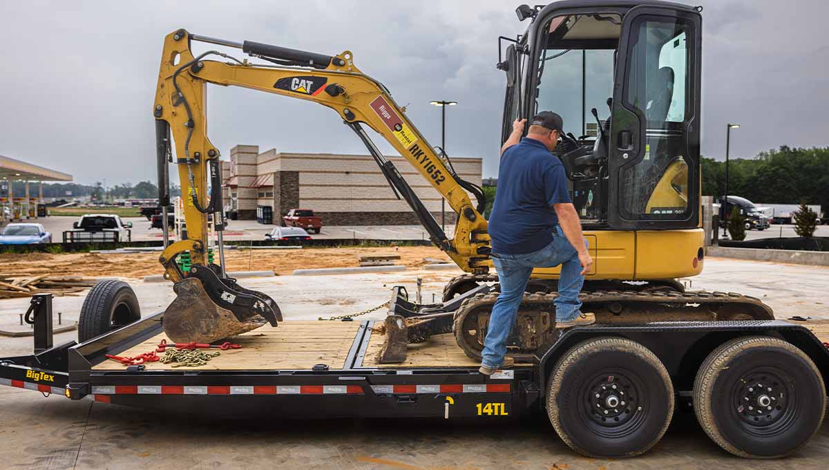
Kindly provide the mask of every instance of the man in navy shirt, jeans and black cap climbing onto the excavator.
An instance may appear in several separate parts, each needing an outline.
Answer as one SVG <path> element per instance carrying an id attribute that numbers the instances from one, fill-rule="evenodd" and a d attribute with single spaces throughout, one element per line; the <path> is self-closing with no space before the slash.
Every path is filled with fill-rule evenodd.
<path id="1" fill-rule="evenodd" d="M 561 116 L 550 111 L 536 115 L 525 138 L 526 119 L 516 119 L 501 148 L 498 190 L 489 235 L 492 263 L 501 293 L 492 308 L 484 341 L 481 373 L 487 376 L 513 362 L 507 337 L 516 322 L 518 307 L 533 268 L 561 264 L 555 327 L 589 325 L 593 313 L 581 313 L 579 291 L 593 259 L 581 231 L 579 215 L 570 201 L 564 165 L 552 154 L 562 133 Z"/>

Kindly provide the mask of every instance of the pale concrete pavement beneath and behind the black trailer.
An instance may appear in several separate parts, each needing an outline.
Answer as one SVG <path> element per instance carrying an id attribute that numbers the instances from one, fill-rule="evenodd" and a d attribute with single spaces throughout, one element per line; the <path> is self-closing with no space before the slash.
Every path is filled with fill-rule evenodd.
<path id="1" fill-rule="evenodd" d="M 403 284 L 414 297 L 424 279 L 424 301 L 439 298 L 444 283 L 460 271 L 405 271 L 337 276 L 279 276 L 244 279 L 248 288 L 271 295 L 286 320 L 354 313 L 389 298 Z M 747 293 L 762 298 L 778 317 L 829 318 L 825 298 L 829 268 L 734 259 L 705 259 L 705 272 L 690 279 L 693 289 Z M 166 283 L 130 282 L 143 312 L 172 300 Z M 359 286 L 359 288 L 355 288 Z M 82 297 L 56 298 L 55 310 L 75 319 Z M 27 299 L 0 301 L 0 321 L 17 320 Z M 382 312 L 366 315 L 381 318 Z M 56 336 L 56 343 L 75 333 Z M 0 338 L 0 356 L 30 354 L 31 338 Z M 210 410 L 205 410 L 209 413 Z M 142 409 L 44 399 L 30 390 L 0 387 L 0 458 L 5 468 L 340 468 L 473 469 L 699 468 L 755 470 L 822 468 L 829 458 L 829 425 L 792 458 L 746 461 L 718 448 L 692 414 L 676 411 L 662 442 L 640 458 L 581 458 L 555 435 L 545 416 L 500 424 L 444 420 L 290 421 L 263 409 L 246 421 L 185 419 Z"/>

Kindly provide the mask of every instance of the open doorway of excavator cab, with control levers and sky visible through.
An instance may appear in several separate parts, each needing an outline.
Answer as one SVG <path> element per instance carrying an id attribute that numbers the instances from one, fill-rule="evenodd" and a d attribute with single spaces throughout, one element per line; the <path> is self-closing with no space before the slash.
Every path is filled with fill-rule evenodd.
<path id="1" fill-rule="evenodd" d="M 609 98 L 621 24 L 618 13 L 591 12 L 555 16 L 540 28 L 528 115 L 550 110 L 564 119 L 567 135 L 554 153 L 584 221 L 606 219 Z"/>

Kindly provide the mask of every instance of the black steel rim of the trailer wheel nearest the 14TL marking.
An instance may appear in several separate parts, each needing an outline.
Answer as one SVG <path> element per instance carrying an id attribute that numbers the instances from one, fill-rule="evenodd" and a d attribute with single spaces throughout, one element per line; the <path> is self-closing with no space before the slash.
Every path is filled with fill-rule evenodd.
<path id="1" fill-rule="evenodd" d="M 634 434 L 651 413 L 644 380 L 625 368 L 608 368 L 584 381 L 578 414 L 581 423 L 604 438 Z"/>

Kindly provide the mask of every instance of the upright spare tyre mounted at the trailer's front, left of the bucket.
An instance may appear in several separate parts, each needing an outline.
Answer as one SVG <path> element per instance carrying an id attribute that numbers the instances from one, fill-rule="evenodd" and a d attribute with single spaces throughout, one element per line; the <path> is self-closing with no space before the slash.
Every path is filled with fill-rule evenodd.
<path id="1" fill-rule="evenodd" d="M 101 281 L 86 295 L 80 308 L 78 341 L 88 341 L 139 319 L 141 308 L 133 288 L 123 281 Z"/>

